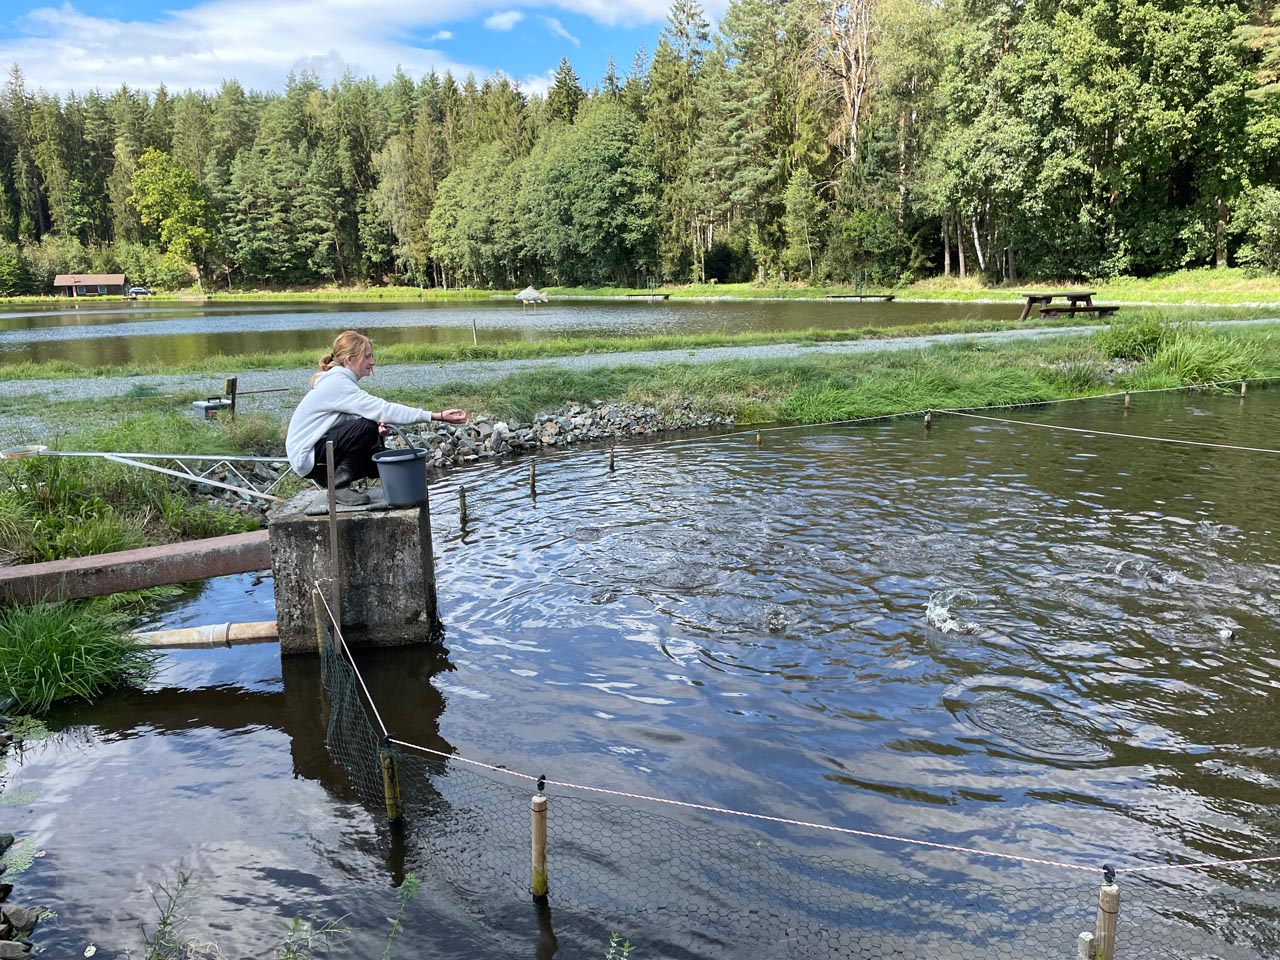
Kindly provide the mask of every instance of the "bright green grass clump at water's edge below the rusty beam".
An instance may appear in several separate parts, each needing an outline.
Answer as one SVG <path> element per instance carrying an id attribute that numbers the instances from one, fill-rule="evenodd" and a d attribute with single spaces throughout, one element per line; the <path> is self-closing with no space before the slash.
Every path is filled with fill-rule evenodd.
<path id="1" fill-rule="evenodd" d="M 4 709 L 45 713 L 60 700 L 90 700 L 145 681 L 155 659 L 155 652 L 125 636 L 122 616 L 106 604 L 38 603 L 0 611 Z"/>

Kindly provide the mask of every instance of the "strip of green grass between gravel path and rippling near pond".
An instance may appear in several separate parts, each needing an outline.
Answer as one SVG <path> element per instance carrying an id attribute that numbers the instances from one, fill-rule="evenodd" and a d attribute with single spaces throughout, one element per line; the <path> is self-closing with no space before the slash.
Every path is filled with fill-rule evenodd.
<path id="1" fill-rule="evenodd" d="M 529 421 L 568 402 L 618 399 L 659 410 L 691 403 L 696 413 L 733 416 L 740 425 L 824 422 L 922 410 L 1036 403 L 1124 389 L 1206 384 L 1239 376 L 1280 375 L 1277 326 L 1202 330 L 1157 324 L 1169 346 L 1126 360 L 1125 339 L 1106 330 L 1007 343 L 936 344 L 916 351 L 812 355 L 741 360 L 622 365 L 599 370 L 526 371 L 494 383 L 453 383 L 431 390 L 399 390 L 394 398 L 448 403 L 507 420 Z M 1175 357 L 1194 351 L 1198 365 Z M 1212 362 L 1207 362 L 1212 358 Z"/>

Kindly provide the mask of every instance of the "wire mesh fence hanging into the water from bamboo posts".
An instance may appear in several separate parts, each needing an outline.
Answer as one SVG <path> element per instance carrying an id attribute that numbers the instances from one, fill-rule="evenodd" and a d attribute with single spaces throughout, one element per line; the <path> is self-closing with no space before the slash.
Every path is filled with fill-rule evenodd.
<path id="1" fill-rule="evenodd" d="M 538 787 L 522 774 L 401 748 L 380 728 L 340 644 L 323 646 L 332 755 L 371 810 L 401 818 L 413 869 L 472 893 L 477 919 L 500 925 L 530 901 Z M 897 873 L 815 852 L 822 838 L 801 827 L 758 829 L 655 804 L 548 794 L 549 902 L 558 923 L 573 918 L 602 943 L 625 932 L 649 956 L 1073 957 L 1098 915 L 1101 872 L 1029 881 L 1034 870 L 1015 864 L 1007 883 L 955 870 Z M 1121 878 L 1115 956 L 1280 956 L 1272 874 L 1178 873 L 1192 886 Z"/>

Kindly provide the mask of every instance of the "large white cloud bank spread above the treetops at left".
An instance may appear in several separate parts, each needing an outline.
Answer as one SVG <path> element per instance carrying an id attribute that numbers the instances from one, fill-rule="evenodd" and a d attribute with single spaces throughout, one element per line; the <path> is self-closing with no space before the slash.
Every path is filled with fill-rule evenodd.
<path id="1" fill-rule="evenodd" d="M 708 17 L 726 3 L 704 3 Z M 169 0 L 166 13 L 146 20 L 96 17 L 63 3 L 19 18 L 19 36 L 0 38 L 0 64 L 19 64 L 28 87 L 55 93 L 120 83 L 211 91 L 230 78 L 279 90 L 291 70 L 310 69 L 325 81 L 347 70 L 385 79 L 397 64 L 411 77 L 433 69 L 484 77 L 502 65 L 500 50 L 486 54 L 493 63 L 458 63 L 430 44 L 453 40 L 458 26 L 486 14 L 485 26 L 509 29 L 525 17 L 518 8 L 561 9 L 613 27 L 660 24 L 669 0 Z M 580 42 L 559 20 L 544 19 Z M 415 35 L 430 36 L 428 46 Z M 536 78 L 529 83 L 539 86 Z"/>

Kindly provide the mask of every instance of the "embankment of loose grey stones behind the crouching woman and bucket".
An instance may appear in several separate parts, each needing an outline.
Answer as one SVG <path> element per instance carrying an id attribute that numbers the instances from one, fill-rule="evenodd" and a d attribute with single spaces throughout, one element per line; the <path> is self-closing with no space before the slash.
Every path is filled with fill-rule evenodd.
<path id="1" fill-rule="evenodd" d="M 436 474 L 486 458 L 512 457 L 579 443 L 611 443 L 641 439 L 654 434 L 707 430 L 732 426 L 732 417 L 695 413 L 690 403 L 672 412 L 632 403 L 571 403 L 554 413 L 538 416 L 531 424 L 479 417 L 462 426 L 433 421 L 404 428 L 410 443 L 429 451 L 428 466 Z M 257 481 L 271 483 L 288 467 L 275 470 L 265 463 L 253 466 Z M 210 479 L 236 483 L 234 477 Z M 266 503 L 229 490 L 201 488 L 210 502 L 220 502 L 237 513 L 262 513 Z"/>

